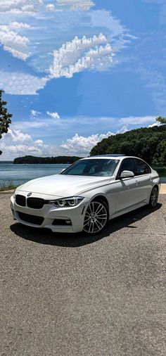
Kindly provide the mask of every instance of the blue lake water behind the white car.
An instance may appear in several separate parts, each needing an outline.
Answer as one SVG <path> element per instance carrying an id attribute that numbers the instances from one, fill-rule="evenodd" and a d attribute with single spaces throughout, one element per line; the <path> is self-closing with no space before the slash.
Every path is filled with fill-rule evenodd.
<path id="1" fill-rule="evenodd" d="M 0 186 L 9 183 L 19 186 L 30 179 L 60 173 L 69 165 L 13 165 L 13 163 L 0 163 Z M 166 183 L 166 177 L 161 177 Z"/>

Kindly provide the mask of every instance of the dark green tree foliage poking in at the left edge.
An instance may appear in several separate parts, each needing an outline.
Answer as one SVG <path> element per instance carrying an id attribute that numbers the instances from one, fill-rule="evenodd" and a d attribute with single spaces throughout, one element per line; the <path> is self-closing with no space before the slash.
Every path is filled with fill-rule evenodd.
<path id="1" fill-rule="evenodd" d="M 12 115 L 8 113 L 8 109 L 5 108 L 7 102 L 3 101 L 2 94 L 3 90 L 0 90 L 0 139 L 2 134 L 6 134 L 8 132 L 8 127 L 11 124 Z M 0 155 L 1 155 L 0 151 Z"/>

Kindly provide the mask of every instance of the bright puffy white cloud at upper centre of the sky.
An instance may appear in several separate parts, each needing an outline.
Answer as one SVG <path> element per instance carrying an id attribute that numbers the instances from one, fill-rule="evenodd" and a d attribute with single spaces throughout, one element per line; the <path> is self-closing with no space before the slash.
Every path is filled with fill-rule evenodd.
<path id="1" fill-rule="evenodd" d="M 72 77 L 82 70 L 106 70 L 113 65 L 112 47 L 106 36 L 99 34 L 87 38 L 75 39 L 63 44 L 57 51 L 53 51 L 53 66 L 50 68 L 51 77 Z"/>

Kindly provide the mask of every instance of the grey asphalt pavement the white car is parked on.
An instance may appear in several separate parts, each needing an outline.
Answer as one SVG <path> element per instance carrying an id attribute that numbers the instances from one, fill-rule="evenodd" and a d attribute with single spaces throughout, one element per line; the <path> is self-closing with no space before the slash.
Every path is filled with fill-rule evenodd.
<path id="1" fill-rule="evenodd" d="M 1 356 L 165 356 L 165 208 L 91 238 L 13 222 L 1 194 Z"/>

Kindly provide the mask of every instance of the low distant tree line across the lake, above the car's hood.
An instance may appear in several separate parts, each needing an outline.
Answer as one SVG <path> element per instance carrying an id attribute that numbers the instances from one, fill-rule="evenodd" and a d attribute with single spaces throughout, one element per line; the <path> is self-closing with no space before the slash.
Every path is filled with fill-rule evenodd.
<path id="1" fill-rule="evenodd" d="M 13 163 L 15 164 L 72 164 L 80 157 L 59 156 L 59 157 L 34 157 L 33 155 L 25 155 L 25 157 L 15 158 Z"/>

